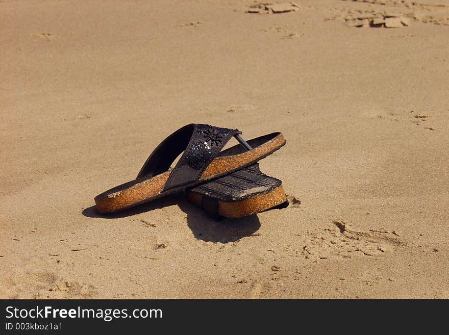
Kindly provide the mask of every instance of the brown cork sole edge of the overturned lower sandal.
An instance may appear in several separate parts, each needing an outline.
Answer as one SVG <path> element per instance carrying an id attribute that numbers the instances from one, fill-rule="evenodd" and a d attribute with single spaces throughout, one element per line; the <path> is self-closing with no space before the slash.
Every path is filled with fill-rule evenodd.
<path id="1" fill-rule="evenodd" d="M 203 196 L 201 193 L 187 192 L 187 199 L 198 207 L 202 206 Z M 218 200 L 217 214 L 222 217 L 237 219 L 269 210 L 285 201 L 287 201 L 287 197 L 281 185 L 267 193 L 257 194 L 240 201 Z"/>

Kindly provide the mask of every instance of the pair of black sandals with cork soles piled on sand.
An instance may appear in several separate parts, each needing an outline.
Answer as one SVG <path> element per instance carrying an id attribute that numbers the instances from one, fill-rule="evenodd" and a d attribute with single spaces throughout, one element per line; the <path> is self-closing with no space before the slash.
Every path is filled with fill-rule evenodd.
<path id="1" fill-rule="evenodd" d="M 186 191 L 189 201 L 215 218 L 288 204 L 281 181 L 263 174 L 257 164 L 285 145 L 284 136 L 271 133 L 245 141 L 241 134 L 208 124 L 183 126 L 158 145 L 136 179 L 97 195 L 97 211 L 114 213 L 178 191 Z M 232 137 L 239 144 L 222 150 Z"/>

